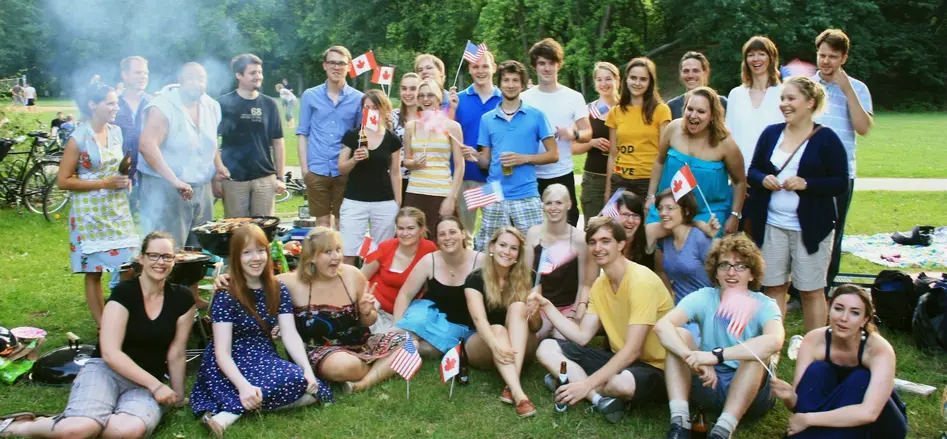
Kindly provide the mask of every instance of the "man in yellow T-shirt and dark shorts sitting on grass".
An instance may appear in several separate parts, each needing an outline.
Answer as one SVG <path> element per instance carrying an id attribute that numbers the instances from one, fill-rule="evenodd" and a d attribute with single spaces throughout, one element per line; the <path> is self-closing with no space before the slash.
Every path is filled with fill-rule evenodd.
<path id="1" fill-rule="evenodd" d="M 656 274 L 622 256 L 627 236 L 615 220 L 592 218 L 585 237 L 605 274 L 592 285 L 589 310 L 578 324 L 542 295 L 530 294 L 530 312 L 541 309 L 566 338 L 543 340 L 536 358 L 549 371 L 546 385 L 555 391 L 557 403 L 586 399 L 605 419 L 618 422 L 626 401 L 653 400 L 664 393 L 665 350 L 651 329 L 674 308 L 674 301 Z M 586 347 L 602 328 L 611 350 Z M 553 377 L 563 361 L 569 384 L 556 388 Z"/>

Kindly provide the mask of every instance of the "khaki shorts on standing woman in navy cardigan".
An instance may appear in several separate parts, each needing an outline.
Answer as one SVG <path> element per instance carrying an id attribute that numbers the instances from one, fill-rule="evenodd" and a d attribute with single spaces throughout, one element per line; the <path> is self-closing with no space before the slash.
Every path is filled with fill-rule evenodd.
<path id="1" fill-rule="evenodd" d="M 815 291 L 825 287 L 825 275 L 829 271 L 829 259 L 832 256 L 832 237 L 829 233 L 819 243 L 819 250 L 813 254 L 806 251 L 802 242 L 802 232 L 786 230 L 766 225 L 763 235 L 763 260 L 766 269 L 763 272 L 763 286 L 783 285 L 790 280 L 799 291 Z"/>

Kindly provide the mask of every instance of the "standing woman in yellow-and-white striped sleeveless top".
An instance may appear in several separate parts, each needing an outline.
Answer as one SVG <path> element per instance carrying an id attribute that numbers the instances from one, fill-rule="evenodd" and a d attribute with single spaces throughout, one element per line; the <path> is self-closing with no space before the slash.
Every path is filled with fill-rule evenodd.
<path id="1" fill-rule="evenodd" d="M 428 230 L 436 230 L 440 217 L 457 215 L 464 180 L 460 150 L 464 135 L 460 124 L 441 113 L 443 93 L 433 80 L 421 81 L 421 118 L 408 122 L 404 129 L 404 165 L 411 170 L 404 205 L 424 212 Z"/>

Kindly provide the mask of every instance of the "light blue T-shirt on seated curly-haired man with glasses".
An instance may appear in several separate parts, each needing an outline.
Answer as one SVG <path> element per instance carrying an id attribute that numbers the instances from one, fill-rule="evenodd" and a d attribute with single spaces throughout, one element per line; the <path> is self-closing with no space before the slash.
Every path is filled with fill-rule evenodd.
<path id="1" fill-rule="evenodd" d="M 779 305 L 776 305 L 775 300 L 755 291 L 751 291 L 750 295 L 759 302 L 759 307 L 739 337 L 727 331 L 727 323 L 715 318 L 717 308 L 720 307 L 720 288 L 701 288 L 688 294 L 677 304 L 678 308 L 687 313 L 688 321 L 695 321 L 700 326 L 701 351 L 710 352 L 716 347 L 736 346 L 737 340 L 745 343 L 751 338 L 762 335 L 763 325 L 770 320 L 782 320 Z M 726 360 L 724 364 L 734 369 L 740 366 L 740 362 L 736 360 Z"/>

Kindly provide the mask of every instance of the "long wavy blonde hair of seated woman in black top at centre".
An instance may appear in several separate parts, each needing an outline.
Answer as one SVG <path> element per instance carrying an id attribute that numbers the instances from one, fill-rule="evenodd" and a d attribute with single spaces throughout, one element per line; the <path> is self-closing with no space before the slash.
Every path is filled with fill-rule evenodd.
<path id="1" fill-rule="evenodd" d="M 486 290 L 483 293 L 486 297 L 487 309 L 506 308 L 513 302 L 525 302 L 526 296 L 529 295 L 530 268 L 526 266 L 526 238 L 516 228 L 504 226 L 493 233 L 489 245 L 496 244 L 504 233 L 516 237 L 520 249 L 516 256 L 516 263 L 510 267 L 506 286 L 502 291 L 500 291 L 500 279 L 496 262 L 491 257 L 488 262 L 483 264 L 483 289 Z"/>

